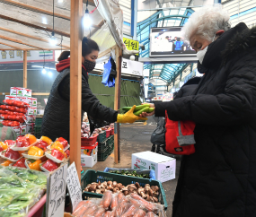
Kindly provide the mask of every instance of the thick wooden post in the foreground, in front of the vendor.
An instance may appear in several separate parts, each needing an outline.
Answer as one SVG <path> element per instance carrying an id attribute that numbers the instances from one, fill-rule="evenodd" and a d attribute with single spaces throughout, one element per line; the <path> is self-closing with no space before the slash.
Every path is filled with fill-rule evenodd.
<path id="1" fill-rule="evenodd" d="M 83 0 L 71 1 L 70 20 L 70 164 L 75 161 L 81 180 L 81 99 Z"/>

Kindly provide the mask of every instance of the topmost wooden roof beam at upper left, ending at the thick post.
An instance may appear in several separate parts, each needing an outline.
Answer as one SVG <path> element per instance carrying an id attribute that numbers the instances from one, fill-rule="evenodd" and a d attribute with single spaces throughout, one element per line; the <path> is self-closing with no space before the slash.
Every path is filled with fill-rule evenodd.
<path id="1" fill-rule="evenodd" d="M 41 9 L 39 7 L 31 6 L 29 4 L 22 4 L 22 3 L 19 3 L 19 2 L 15 2 L 13 0 L 0 0 L 0 2 L 3 2 L 4 4 L 12 4 L 13 6 L 21 7 L 23 9 L 27 9 L 27 10 L 32 11 L 32 12 L 43 13 L 43 14 L 47 14 L 49 16 L 53 16 L 52 12 L 50 12 L 48 10 Z M 93 2 L 93 0 L 91 2 Z M 54 16 L 58 17 L 58 18 L 65 19 L 67 21 L 70 21 L 70 16 L 66 16 L 66 15 L 63 15 L 63 14 L 60 14 L 60 13 L 54 13 Z M 100 29 L 97 25 L 92 24 L 92 27 Z"/>

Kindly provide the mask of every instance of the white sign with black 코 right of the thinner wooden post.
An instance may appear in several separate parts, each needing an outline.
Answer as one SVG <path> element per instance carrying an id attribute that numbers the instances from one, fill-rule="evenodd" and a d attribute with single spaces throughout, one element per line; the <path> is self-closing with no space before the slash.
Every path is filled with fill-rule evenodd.
<path id="1" fill-rule="evenodd" d="M 143 63 L 123 58 L 122 74 L 143 76 Z"/>

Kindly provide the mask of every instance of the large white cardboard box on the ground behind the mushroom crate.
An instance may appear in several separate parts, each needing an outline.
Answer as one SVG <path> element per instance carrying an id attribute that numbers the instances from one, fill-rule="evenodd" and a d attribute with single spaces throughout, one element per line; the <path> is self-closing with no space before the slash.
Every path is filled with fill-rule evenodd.
<path id="1" fill-rule="evenodd" d="M 175 178 L 176 159 L 154 152 L 138 152 L 131 155 L 131 169 L 154 169 L 155 178 L 166 182 Z"/>

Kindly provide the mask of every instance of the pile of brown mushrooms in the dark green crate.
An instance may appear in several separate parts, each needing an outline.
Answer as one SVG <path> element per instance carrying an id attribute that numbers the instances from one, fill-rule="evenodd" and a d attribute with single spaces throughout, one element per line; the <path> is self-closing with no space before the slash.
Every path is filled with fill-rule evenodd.
<path id="1" fill-rule="evenodd" d="M 138 183 L 130 184 L 127 187 L 123 186 L 121 183 L 117 183 L 116 181 L 108 181 L 108 182 L 93 182 L 92 184 L 87 185 L 84 188 L 86 192 L 92 192 L 96 194 L 104 194 L 105 191 L 110 190 L 114 193 L 123 193 L 124 195 L 130 195 L 135 193 L 140 195 L 146 201 L 158 203 L 158 195 L 159 195 L 159 187 L 152 186 L 146 184 L 145 187 L 141 187 Z"/>

